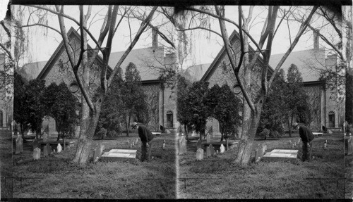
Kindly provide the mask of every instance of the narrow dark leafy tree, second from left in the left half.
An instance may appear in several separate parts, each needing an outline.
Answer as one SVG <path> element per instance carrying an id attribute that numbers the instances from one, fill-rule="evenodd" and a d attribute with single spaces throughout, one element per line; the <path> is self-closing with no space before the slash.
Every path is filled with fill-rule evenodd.
<path id="1" fill-rule="evenodd" d="M 44 80 L 30 80 L 25 85 L 25 113 L 30 124 L 30 130 L 35 131 L 36 137 L 40 134 L 43 118 L 47 111 L 47 106 L 43 102 L 43 93 L 45 89 Z"/>

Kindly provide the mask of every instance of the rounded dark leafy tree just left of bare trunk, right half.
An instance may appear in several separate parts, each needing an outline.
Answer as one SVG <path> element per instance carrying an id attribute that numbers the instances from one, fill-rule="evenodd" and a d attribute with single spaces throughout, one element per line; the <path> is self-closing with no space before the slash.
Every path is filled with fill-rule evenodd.
<path id="1" fill-rule="evenodd" d="M 221 141 L 237 133 L 237 127 L 241 124 L 239 111 L 241 101 L 234 95 L 227 84 L 220 87 L 215 84 L 208 91 L 208 106 L 210 116 L 220 122 Z"/>

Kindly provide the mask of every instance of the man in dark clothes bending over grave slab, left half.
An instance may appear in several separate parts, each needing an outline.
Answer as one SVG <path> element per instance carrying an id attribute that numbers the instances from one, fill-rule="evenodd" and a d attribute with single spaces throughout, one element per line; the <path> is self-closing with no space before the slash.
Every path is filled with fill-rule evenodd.
<path id="1" fill-rule="evenodd" d="M 150 160 L 151 158 L 151 149 L 152 149 L 152 139 L 153 134 L 148 130 L 145 125 L 139 124 L 137 122 L 133 122 L 131 127 L 134 129 L 137 127 L 138 137 L 141 139 L 141 161 Z"/>

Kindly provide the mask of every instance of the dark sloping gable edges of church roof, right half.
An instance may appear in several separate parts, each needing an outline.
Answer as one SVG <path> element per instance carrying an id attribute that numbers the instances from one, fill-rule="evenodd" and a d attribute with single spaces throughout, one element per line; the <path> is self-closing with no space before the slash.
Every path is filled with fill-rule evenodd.
<path id="1" fill-rule="evenodd" d="M 231 43 L 234 43 L 236 42 L 236 40 L 240 40 L 240 37 L 239 37 L 239 33 L 236 30 L 234 30 L 229 37 L 229 41 Z M 249 51 L 254 51 L 254 49 L 251 46 L 249 46 Z M 213 60 L 213 63 L 211 63 L 210 67 L 205 72 L 205 75 L 203 75 L 203 77 L 201 78 L 201 81 L 207 81 L 210 78 L 212 73 L 215 71 L 215 69 L 220 64 L 220 62 L 222 62 L 222 59 L 225 58 L 225 56 L 227 56 L 227 53 L 225 50 L 225 46 L 223 46 L 220 52 L 215 57 L 215 60 Z M 261 58 L 261 56 L 258 56 L 258 61 L 261 62 L 261 64 L 263 64 L 263 58 Z M 272 74 L 274 71 L 273 68 L 271 68 L 270 64 L 268 64 L 268 70 L 270 74 Z"/>

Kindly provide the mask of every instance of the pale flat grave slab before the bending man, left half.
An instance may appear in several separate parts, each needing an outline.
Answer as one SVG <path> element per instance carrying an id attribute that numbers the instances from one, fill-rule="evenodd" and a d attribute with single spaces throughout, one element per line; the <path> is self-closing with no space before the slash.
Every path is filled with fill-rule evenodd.
<path id="1" fill-rule="evenodd" d="M 121 161 L 136 159 L 137 150 L 134 149 L 111 149 L 109 152 L 103 153 L 100 158 L 106 161 Z"/>

